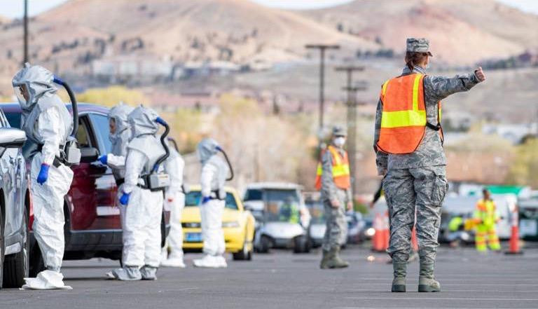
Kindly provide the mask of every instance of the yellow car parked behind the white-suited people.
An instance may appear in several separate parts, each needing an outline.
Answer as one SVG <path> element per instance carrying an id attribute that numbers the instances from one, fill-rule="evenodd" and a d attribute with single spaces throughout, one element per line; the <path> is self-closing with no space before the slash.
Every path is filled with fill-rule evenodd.
<path id="1" fill-rule="evenodd" d="M 225 187 L 226 207 L 222 214 L 222 228 L 226 252 L 233 254 L 234 260 L 252 259 L 254 247 L 254 216 L 244 210 L 239 194 L 234 188 Z M 183 227 L 183 249 L 200 251 L 203 248 L 202 228 L 200 224 L 200 186 L 191 186 L 185 195 L 185 208 L 181 216 Z"/>

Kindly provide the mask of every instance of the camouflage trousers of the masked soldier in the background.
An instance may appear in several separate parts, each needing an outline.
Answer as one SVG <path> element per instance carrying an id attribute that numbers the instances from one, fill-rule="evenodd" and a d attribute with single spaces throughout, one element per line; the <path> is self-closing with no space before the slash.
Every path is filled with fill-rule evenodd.
<path id="1" fill-rule="evenodd" d="M 347 239 L 347 220 L 345 219 L 345 191 L 338 191 L 339 207 L 332 207 L 329 200 L 323 202 L 326 230 L 322 249 L 329 251 L 333 247 L 345 244 Z"/>

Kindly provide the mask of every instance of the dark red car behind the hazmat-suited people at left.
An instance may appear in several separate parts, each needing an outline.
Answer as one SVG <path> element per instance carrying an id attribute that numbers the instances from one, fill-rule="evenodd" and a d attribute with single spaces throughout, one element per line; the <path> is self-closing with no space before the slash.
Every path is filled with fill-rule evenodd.
<path id="1" fill-rule="evenodd" d="M 1 104 L 0 107 L 13 127 L 20 128 L 19 104 Z M 70 104 L 67 108 L 71 111 Z M 97 161 L 100 154 L 111 151 L 108 112 L 109 109 L 94 104 L 78 104 L 76 139 L 82 158 L 80 165 L 71 167 L 74 178 L 64 201 L 64 260 L 93 257 L 121 260 L 123 241 L 116 197 L 118 187 L 112 170 Z M 31 141 L 22 148 L 28 170 L 35 151 L 36 144 Z M 169 221 L 170 212 L 163 212 L 163 244 L 170 231 Z M 39 246 L 32 233 L 31 236 L 29 275 L 34 277 L 44 265 Z"/>

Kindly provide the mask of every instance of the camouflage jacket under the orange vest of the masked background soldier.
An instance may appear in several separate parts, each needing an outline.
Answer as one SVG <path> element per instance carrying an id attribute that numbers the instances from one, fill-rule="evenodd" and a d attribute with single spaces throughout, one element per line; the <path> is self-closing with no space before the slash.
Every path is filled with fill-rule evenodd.
<path id="1" fill-rule="evenodd" d="M 335 146 L 336 147 L 336 146 Z M 341 156 L 344 156 L 345 150 L 336 147 Z M 322 156 L 322 200 L 324 202 L 330 202 L 331 200 L 338 200 L 342 202 L 349 202 L 352 200 L 351 188 L 342 190 L 334 184 L 333 178 L 333 156 L 331 151 L 325 151 Z"/>

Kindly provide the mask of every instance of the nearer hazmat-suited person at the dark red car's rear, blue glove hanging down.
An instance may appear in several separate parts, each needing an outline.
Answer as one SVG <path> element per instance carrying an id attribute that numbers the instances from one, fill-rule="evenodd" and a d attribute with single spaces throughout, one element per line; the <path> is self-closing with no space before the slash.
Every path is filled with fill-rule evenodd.
<path id="1" fill-rule="evenodd" d="M 107 275 L 118 280 L 156 280 L 160 263 L 160 221 L 163 191 L 144 188 L 141 178 L 149 174 L 165 156 L 165 147 L 156 136 L 158 124 L 165 122 L 152 109 L 139 106 L 127 117 L 132 139 L 127 145 L 125 182 L 118 192 L 125 207 L 123 218 L 123 268 Z M 170 160 L 165 161 L 166 165 Z"/>

